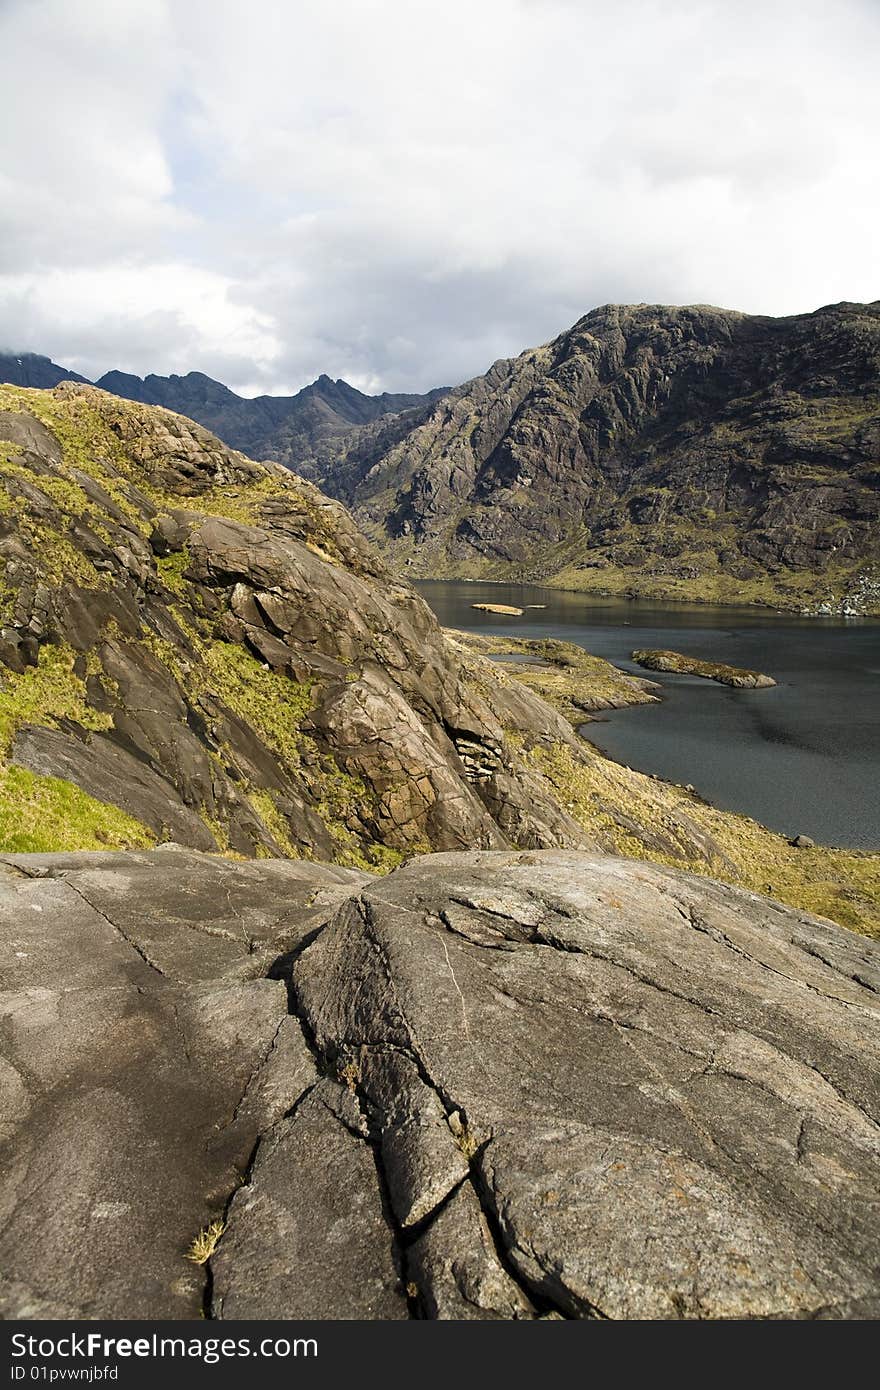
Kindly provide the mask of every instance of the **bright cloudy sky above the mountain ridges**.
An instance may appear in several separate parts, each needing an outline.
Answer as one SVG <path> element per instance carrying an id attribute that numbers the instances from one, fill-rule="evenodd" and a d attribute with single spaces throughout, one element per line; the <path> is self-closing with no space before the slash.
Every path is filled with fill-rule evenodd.
<path id="1" fill-rule="evenodd" d="M 0 0 L 0 345 L 424 391 L 880 297 L 880 0 Z"/>

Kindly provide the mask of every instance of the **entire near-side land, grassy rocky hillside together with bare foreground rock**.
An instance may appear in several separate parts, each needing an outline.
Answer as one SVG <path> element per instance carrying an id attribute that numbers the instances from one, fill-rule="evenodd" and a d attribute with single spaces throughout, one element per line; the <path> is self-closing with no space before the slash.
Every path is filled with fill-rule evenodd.
<path id="1" fill-rule="evenodd" d="M 877 1315 L 879 856 L 157 406 L 0 386 L 0 1316 Z"/>

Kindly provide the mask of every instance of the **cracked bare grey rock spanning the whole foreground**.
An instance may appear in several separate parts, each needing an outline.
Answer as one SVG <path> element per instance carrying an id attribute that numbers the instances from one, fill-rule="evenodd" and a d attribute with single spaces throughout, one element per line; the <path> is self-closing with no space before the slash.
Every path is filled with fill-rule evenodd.
<path id="1" fill-rule="evenodd" d="M 880 1314 L 865 938 L 563 851 L 6 856 L 0 916 L 6 1318 Z"/>

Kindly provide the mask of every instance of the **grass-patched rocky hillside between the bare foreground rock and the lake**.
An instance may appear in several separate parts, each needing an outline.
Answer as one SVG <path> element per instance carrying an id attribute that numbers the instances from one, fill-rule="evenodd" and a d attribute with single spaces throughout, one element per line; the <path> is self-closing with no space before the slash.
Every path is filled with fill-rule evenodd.
<path id="1" fill-rule="evenodd" d="M 564 644 L 502 670 L 338 503 L 160 407 L 0 388 L 0 851 L 592 848 L 880 931 L 879 856 L 795 849 L 577 737 L 651 682 Z"/>

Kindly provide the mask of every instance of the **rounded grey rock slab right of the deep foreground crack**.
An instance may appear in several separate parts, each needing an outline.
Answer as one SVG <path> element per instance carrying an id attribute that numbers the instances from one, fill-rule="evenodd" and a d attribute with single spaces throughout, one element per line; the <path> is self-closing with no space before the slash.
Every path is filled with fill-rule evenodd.
<path id="1" fill-rule="evenodd" d="M 434 1087 L 496 1255 L 541 1308 L 827 1318 L 880 1311 L 879 963 L 674 870 L 471 853 L 371 884 L 293 984 L 366 1094 L 377 1054 Z M 443 1315 L 442 1243 L 417 1257 Z"/>

